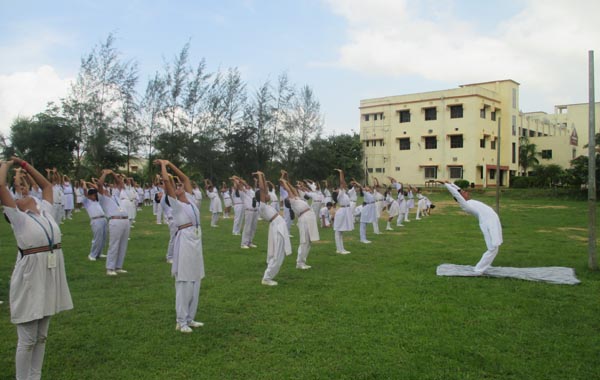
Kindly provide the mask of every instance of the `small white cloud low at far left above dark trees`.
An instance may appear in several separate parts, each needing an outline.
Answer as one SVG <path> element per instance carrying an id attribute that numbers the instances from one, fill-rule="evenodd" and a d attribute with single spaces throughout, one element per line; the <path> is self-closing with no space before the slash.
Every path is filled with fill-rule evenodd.
<path id="1" fill-rule="evenodd" d="M 71 78 L 61 78 L 51 66 L 35 71 L 0 75 L 0 132 L 10 133 L 15 118 L 31 117 L 46 109 L 50 101 L 67 95 Z"/>

